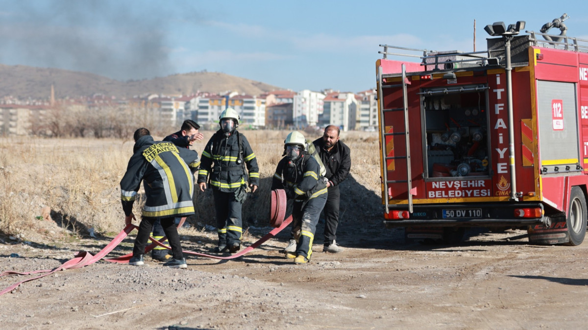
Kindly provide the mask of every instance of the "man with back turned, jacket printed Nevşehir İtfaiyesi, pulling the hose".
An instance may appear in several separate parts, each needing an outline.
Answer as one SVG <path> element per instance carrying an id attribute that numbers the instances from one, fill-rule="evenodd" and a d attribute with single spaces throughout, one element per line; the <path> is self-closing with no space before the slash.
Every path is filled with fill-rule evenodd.
<path id="1" fill-rule="evenodd" d="M 142 220 L 133 247 L 130 265 L 142 265 L 149 232 L 156 220 L 161 221 L 163 232 L 172 247 L 173 259 L 163 264 L 171 268 L 186 268 L 182 245 L 174 224 L 175 217 L 194 214 L 192 194 L 194 178 L 200 159 L 193 150 L 178 149 L 170 142 L 154 142 L 148 129 L 135 131 L 133 156 L 121 180 L 122 209 L 125 224 L 133 219 L 133 203 L 144 181 L 146 201 L 141 212 Z"/>

